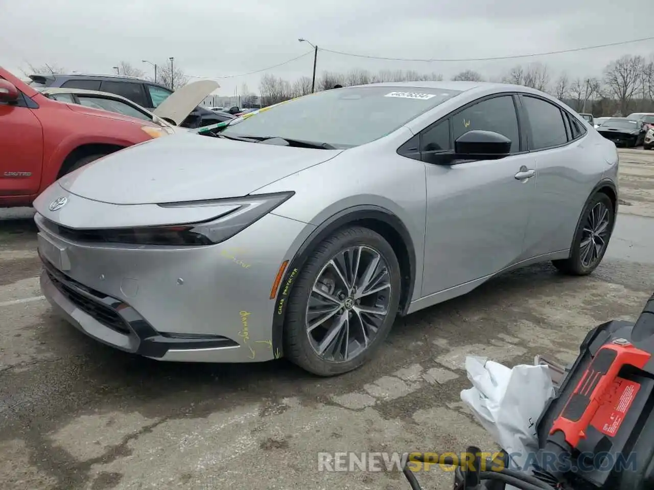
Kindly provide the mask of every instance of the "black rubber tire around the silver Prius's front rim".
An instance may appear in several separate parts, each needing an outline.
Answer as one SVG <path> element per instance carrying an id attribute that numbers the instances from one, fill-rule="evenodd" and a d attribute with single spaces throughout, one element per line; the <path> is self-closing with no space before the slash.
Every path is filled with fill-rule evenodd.
<path id="1" fill-rule="evenodd" d="M 306 315 L 309 295 L 325 265 L 339 252 L 356 246 L 373 248 L 386 262 L 390 284 L 388 314 L 368 348 L 349 360 L 326 360 L 314 350 L 307 333 Z M 363 227 L 349 227 L 326 238 L 309 255 L 290 293 L 284 322 L 284 357 L 318 376 L 337 376 L 366 363 L 379 350 L 394 323 L 400 302 L 401 277 L 400 265 L 392 247 L 375 231 Z"/>

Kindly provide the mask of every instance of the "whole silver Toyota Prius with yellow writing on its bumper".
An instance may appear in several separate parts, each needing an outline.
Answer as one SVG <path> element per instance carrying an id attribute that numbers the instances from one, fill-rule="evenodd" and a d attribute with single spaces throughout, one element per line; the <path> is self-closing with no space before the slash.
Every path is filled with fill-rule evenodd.
<path id="1" fill-rule="evenodd" d="M 396 316 L 552 261 L 591 273 L 618 155 L 522 86 L 371 84 L 137 144 L 35 202 L 41 287 L 78 329 L 161 361 L 286 357 L 333 376 Z"/>

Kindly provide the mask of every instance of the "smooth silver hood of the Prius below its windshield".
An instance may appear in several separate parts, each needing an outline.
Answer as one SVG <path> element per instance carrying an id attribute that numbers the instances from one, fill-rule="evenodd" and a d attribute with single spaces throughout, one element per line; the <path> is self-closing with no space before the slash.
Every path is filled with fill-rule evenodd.
<path id="1" fill-rule="evenodd" d="M 241 197 L 341 152 L 179 133 L 97 159 L 58 182 L 73 194 L 112 204 Z"/>

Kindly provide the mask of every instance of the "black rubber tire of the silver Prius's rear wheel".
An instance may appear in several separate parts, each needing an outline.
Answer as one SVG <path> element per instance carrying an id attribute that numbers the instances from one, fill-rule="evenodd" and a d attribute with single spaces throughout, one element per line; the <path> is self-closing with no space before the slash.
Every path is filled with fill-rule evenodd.
<path id="1" fill-rule="evenodd" d="M 587 227 L 588 220 L 591 216 L 591 212 L 596 209 L 598 204 L 602 204 L 606 210 L 608 210 L 608 225 L 606 226 L 606 235 L 604 236 L 604 246 L 602 250 L 598 253 L 598 256 L 594 261 L 585 265 L 582 260 L 581 255 L 581 240 L 585 238 L 584 228 Z M 572 248 L 570 250 L 570 257 L 568 259 L 555 260 L 552 261 L 554 267 L 559 269 L 564 274 L 570 274 L 572 276 L 587 276 L 591 274 L 593 270 L 597 268 L 598 265 L 602 262 L 604 253 L 608 248 L 611 235 L 613 233 L 613 225 L 615 223 L 615 208 L 613 208 L 613 203 L 608 195 L 598 192 L 593 196 L 593 199 L 586 204 L 581 213 L 581 218 L 579 219 L 579 224 L 574 234 L 574 240 L 572 240 Z M 589 245 L 591 246 L 591 245 Z"/>

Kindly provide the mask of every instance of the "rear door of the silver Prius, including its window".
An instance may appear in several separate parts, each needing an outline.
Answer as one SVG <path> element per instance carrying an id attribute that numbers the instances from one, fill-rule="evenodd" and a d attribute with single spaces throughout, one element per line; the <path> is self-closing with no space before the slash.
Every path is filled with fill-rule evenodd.
<path id="1" fill-rule="evenodd" d="M 538 166 L 525 253 L 538 257 L 570 248 L 581 210 L 602 176 L 604 157 L 587 138 L 585 125 L 559 105 L 537 95 L 519 99 Z"/>

